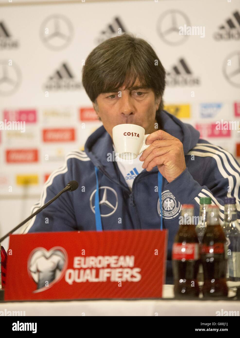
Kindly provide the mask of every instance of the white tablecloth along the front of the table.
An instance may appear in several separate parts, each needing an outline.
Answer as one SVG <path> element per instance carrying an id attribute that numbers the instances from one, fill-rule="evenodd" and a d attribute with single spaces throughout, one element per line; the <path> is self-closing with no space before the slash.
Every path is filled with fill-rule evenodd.
<path id="1" fill-rule="evenodd" d="M 173 297 L 164 285 L 163 298 Z M 5 310 L 6 309 L 6 310 Z M 0 311 L 25 311 L 26 316 L 216 316 L 216 311 L 239 311 L 233 300 L 79 300 L 0 303 Z"/>

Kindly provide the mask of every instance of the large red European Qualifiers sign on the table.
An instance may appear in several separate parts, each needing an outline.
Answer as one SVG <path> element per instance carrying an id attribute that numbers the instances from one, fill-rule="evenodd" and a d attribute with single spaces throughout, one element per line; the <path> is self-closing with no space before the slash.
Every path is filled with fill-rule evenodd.
<path id="1" fill-rule="evenodd" d="M 166 230 L 10 235 L 5 300 L 159 298 Z"/>

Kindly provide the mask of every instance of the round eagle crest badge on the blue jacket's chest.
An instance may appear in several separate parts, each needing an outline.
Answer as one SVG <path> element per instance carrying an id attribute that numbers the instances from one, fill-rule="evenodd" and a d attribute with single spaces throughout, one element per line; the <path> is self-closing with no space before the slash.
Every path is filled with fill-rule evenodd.
<path id="1" fill-rule="evenodd" d="M 162 210 L 163 210 L 163 218 L 164 219 L 173 219 L 177 218 L 177 216 L 181 212 L 182 204 L 176 200 L 173 194 L 169 190 L 165 190 L 162 192 Z M 157 203 L 158 214 L 161 216 L 160 203 L 158 198 Z"/>

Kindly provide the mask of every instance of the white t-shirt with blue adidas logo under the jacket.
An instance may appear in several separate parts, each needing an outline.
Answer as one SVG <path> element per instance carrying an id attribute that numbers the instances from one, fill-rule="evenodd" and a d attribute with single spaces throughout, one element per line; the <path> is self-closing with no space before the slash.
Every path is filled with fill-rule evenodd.
<path id="1" fill-rule="evenodd" d="M 117 152 L 114 144 L 113 149 L 115 153 Z M 125 181 L 130 189 L 133 187 L 133 181 L 137 177 L 138 174 L 143 170 L 142 165 L 143 161 L 140 161 L 139 158 L 142 154 L 138 155 L 138 157 L 134 160 L 122 160 L 119 156 L 116 156 L 115 160 L 117 162 L 118 168 L 121 171 Z"/>

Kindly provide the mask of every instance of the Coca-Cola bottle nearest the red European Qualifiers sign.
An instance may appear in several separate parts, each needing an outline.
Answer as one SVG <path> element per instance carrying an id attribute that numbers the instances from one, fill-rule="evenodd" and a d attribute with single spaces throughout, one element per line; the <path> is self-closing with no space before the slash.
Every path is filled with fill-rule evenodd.
<path id="1" fill-rule="evenodd" d="M 197 298 L 197 272 L 200 263 L 199 242 L 194 225 L 193 204 L 183 204 L 179 230 L 172 246 L 175 298 Z"/>

